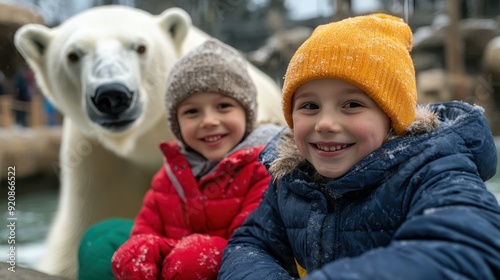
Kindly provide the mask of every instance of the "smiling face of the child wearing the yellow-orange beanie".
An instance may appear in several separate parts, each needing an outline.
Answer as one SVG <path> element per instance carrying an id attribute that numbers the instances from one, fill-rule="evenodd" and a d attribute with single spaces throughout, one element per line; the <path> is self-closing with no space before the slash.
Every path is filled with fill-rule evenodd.
<path id="1" fill-rule="evenodd" d="M 336 79 L 313 80 L 293 96 L 300 153 L 327 178 L 338 178 L 382 146 L 390 118 L 364 91 Z"/>

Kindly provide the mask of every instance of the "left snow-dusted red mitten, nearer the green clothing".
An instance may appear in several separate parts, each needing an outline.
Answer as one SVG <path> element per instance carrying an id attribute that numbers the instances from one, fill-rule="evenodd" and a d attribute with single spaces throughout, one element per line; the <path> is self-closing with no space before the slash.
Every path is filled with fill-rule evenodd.
<path id="1" fill-rule="evenodd" d="M 116 250 L 111 260 L 115 279 L 158 279 L 163 259 L 175 243 L 172 239 L 151 234 L 132 236 Z"/>

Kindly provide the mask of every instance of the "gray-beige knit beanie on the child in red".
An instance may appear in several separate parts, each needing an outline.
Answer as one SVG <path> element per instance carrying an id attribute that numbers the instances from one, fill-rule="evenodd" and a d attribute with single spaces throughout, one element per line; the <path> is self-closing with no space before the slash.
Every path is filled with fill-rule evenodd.
<path id="1" fill-rule="evenodd" d="M 246 64 L 237 50 L 211 38 L 174 65 L 168 79 L 166 104 L 168 126 L 177 139 L 183 141 L 177 108 L 198 92 L 216 92 L 234 98 L 245 109 L 246 133 L 254 129 L 257 89 Z"/>

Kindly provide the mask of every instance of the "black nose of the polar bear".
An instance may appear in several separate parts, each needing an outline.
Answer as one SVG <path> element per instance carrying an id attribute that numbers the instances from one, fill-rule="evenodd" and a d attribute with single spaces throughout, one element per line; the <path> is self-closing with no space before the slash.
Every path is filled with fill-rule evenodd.
<path id="1" fill-rule="evenodd" d="M 133 93 L 119 83 L 101 85 L 97 88 L 92 102 L 97 110 L 107 115 L 118 115 L 130 107 Z"/>

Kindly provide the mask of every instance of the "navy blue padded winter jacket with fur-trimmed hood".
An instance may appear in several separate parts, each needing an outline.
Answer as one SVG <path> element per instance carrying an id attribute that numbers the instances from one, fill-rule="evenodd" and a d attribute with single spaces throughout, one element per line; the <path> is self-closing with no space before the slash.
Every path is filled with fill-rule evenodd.
<path id="1" fill-rule="evenodd" d="M 428 109 L 436 129 L 396 137 L 324 184 L 289 132 L 271 140 L 261 160 L 272 183 L 219 279 L 499 279 L 500 207 L 484 183 L 497 154 L 483 110 Z"/>

